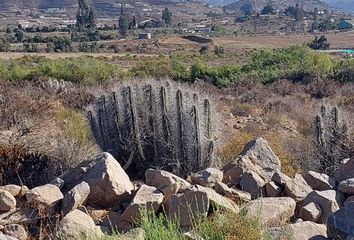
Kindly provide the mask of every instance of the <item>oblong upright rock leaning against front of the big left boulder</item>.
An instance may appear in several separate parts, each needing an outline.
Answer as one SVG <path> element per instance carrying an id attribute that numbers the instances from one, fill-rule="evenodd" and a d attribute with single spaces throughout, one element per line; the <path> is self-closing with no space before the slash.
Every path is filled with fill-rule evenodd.
<path id="1" fill-rule="evenodd" d="M 87 182 L 81 182 L 65 194 L 62 211 L 64 215 L 68 214 L 72 210 L 81 207 L 88 199 L 90 195 L 90 185 Z"/>

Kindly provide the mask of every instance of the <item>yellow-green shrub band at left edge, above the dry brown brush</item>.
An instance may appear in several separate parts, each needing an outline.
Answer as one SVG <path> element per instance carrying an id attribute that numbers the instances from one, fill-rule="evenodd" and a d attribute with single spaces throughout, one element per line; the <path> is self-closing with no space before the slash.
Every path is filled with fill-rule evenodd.
<path id="1" fill-rule="evenodd" d="M 126 72 L 117 65 L 92 57 L 46 59 L 25 56 L 0 61 L 0 79 L 13 82 L 55 78 L 85 85 L 124 77 Z"/>

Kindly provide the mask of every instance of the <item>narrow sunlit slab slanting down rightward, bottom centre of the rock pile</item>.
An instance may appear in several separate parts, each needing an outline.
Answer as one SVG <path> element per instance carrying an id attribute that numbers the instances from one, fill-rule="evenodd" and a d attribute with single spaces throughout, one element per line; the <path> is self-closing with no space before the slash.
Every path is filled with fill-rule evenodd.
<path id="1" fill-rule="evenodd" d="M 199 185 L 196 186 L 196 189 L 197 191 L 205 192 L 207 194 L 208 200 L 212 206 L 216 206 L 220 209 L 228 210 L 233 213 L 239 212 L 239 208 L 235 202 L 226 197 L 221 196 L 220 194 L 215 192 L 215 190 Z"/>

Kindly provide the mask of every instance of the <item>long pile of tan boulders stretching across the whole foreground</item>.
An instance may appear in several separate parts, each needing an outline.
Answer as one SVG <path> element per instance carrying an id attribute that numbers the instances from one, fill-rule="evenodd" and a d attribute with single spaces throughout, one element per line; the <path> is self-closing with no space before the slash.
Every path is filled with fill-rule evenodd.
<path id="1" fill-rule="evenodd" d="M 51 183 L 0 187 L 0 239 L 77 239 L 119 231 L 144 239 L 141 210 L 177 216 L 190 239 L 194 219 L 223 212 L 259 218 L 271 239 L 354 239 L 354 159 L 335 177 L 309 171 L 290 178 L 268 143 L 249 142 L 234 161 L 187 180 L 149 169 L 132 182 L 118 161 L 102 153 Z"/>

